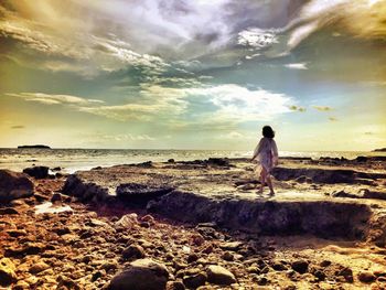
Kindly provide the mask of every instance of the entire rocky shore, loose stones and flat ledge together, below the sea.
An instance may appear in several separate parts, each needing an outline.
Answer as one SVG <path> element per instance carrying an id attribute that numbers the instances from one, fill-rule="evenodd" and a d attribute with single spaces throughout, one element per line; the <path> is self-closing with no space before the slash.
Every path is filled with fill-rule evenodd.
<path id="1" fill-rule="evenodd" d="M 0 287 L 385 289 L 386 162 L 282 159 L 0 171 Z M 32 176 L 31 176 L 32 175 Z"/>

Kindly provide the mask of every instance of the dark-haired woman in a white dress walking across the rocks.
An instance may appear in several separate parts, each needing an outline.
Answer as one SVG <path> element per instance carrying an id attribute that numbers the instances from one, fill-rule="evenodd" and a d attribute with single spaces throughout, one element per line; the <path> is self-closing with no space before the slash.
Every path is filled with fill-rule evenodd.
<path id="1" fill-rule="evenodd" d="M 278 148 L 274 140 L 275 131 L 270 126 L 262 127 L 262 138 L 260 142 L 257 144 L 254 157 L 250 161 L 257 160 L 259 163 L 258 170 L 260 171 L 260 189 L 258 193 L 262 193 L 264 185 L 267 183 L 270 194 L 274 195 L 274 186 L 272 181 L 270 179 L 270 172 L 274 167 L 278 164 Z"/>

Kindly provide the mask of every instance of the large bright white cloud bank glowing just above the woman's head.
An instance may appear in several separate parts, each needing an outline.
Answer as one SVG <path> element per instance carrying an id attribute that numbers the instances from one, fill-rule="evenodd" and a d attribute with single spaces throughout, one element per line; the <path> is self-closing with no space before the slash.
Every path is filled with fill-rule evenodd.
<path id="1" fill-rule="evenodd" d="M 205 125 L 228 128 L 229 123 L 270 120 L 290 111 L 291 98 L 261 88 L 248 89 L 235 84 L 201 87 L 164 87 L 143 84 L 136 101 L 122 105 L 79 106 L 79 111 L 118 121 L 162 120 L 165 126 L 186 128 Z M 204 110 L 192 110 L 204 104 Z"/>

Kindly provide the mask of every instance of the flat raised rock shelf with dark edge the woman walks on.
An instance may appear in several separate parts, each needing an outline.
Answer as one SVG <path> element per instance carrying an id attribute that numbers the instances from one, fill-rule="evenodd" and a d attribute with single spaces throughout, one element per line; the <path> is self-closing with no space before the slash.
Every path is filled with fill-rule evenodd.
<path id="1" fill-rule="evenodd" d="M 380 195 L 385 192 L 386 174 L 367 172 L 365 165 L 325 169 L 304 163 L 299 168 L 293 159 L 283 162 L 274 172 L 275 196 L 256 194 L 256 173 L 245 160 L 98 168 L 69 175 L 63 192 L 83 202 L 147 206 L 181 222 L 211 222 L 262 235 L 385 241 L 383 223 L 377 222 L 383 221 L 384 202 L 366 196 L 373 196 L 368 193 L 374 189 Z M 366 194 L 358 198 L 333 194 L 343 190 Z"/>

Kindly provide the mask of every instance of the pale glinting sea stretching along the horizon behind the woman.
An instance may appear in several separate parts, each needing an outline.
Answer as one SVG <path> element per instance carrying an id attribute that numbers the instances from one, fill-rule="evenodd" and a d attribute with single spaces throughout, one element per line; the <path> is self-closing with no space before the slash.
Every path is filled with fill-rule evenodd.
<path id="1" fill-rule="evenodd" d="M 232 150 L 153 150 L 153 149 L 14 149 L 0 148 L 0 169 L 22 171 L 24 168 L 44 165 L 61 168 L 63 173 L 146 161 L 167 162 L 203 160 L 208 158 L 250 158 L 253 151 Z M 280 151 L 280 157 L 321 157 L 355 159 L 358 155 L 386 155 L 369 151 Z"/>

